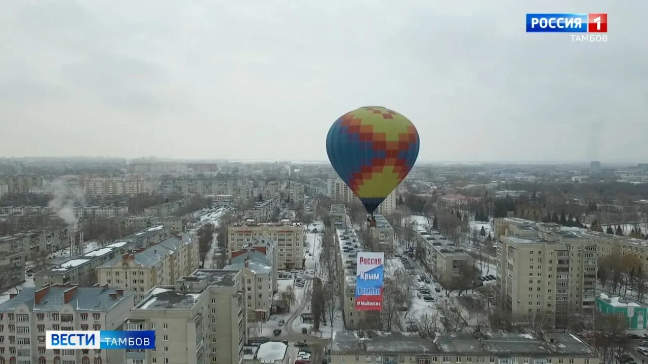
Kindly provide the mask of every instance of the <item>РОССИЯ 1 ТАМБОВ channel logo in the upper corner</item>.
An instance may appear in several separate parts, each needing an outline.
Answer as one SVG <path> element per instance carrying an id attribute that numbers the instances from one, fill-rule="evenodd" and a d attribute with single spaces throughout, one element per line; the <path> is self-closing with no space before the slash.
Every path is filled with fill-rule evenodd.
<path id="1" fill-rule="evenodd" d="M 588 33 L 572 34 L 572 41 L 607 41 L 607 13 L 526 14 L 526 31 Z"/>

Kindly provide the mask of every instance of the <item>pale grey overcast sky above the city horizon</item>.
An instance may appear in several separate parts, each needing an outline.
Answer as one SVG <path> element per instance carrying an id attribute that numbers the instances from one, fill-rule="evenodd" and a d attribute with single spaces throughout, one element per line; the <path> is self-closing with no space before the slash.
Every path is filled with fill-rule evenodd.
<path id="1" fill-rule="evenodd" d="M 0 4 L 0 156 L 325 160 L 379 105 L 419 161 L 648 162 L 646 1 Z M 527 12 L 607 12 L 608 42 Z"/>

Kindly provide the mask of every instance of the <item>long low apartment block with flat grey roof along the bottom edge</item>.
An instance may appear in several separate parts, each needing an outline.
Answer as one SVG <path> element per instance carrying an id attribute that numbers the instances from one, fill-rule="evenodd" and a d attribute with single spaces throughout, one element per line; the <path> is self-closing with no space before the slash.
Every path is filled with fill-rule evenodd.
<path id="1" fill-rule="evenodd" d="M 360 337 L 360 339 L 358 339 Z M 461 332 L 434 341 L 416 332 L 334 332 L 331 364 L 599 364 L 596 350 L 572 334 L 497 333 L 475 339 Z"/>

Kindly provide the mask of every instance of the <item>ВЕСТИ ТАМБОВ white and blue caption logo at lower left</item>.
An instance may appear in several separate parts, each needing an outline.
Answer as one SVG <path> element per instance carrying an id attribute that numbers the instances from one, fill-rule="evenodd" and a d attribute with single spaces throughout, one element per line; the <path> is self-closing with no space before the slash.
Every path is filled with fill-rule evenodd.
<path id="1" fill-rule="evenodd" d="M 47 349 L 153 349 L 154 330 L 47 331 Z"/>

